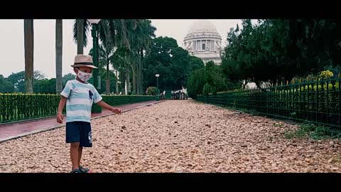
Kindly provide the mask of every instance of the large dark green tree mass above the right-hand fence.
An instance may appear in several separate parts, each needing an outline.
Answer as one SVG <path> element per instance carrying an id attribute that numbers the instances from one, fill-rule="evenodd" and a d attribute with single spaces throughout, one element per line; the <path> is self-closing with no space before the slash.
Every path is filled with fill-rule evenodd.
<path id="1" fill-rule="evenodd" d="M 227 34 L 222 70 L 232 82 L 257 85 L 315 74 L 341 63 L 340 31 L 335 19 L 244 19 Z"/>

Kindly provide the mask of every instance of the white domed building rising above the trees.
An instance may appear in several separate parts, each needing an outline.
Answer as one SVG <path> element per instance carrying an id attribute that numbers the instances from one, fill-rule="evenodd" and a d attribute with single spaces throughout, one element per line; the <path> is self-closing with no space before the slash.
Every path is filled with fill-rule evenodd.
<path id="1" fill-rule="evenodd" d="M 201 58 L 205 64 L 210 60 L 218 65 L 222 63 L 220 55 L 222 37 L 210 21 L 195 21 L 188 30 L 183 43 L 190 55 Z"/>

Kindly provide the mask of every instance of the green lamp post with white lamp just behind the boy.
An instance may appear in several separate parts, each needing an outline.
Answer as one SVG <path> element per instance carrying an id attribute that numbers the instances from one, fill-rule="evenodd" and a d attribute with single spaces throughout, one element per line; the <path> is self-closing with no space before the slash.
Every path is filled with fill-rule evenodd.
<path id="1" fill-rule="evenodd" d="M 99 21 L 101 21 L 100 19 L 87 19 L 87 21 L 89 21 L 92 24 L 92 30 L 91 30 L 91 36 L 92 36 L 92 50 L 93 50 L 93 63 L 94 66 L 96 66 L 98 68 L 98 41 L 97 41 L 97 24 L 99 23 Z M 94 87 L 96 87 L 96 89 L 100 89 L 100 83 L 99 82 L 99 78 L 98 78 L 98 69 L 94 70 L 93 76 L 94 76 Z"/>

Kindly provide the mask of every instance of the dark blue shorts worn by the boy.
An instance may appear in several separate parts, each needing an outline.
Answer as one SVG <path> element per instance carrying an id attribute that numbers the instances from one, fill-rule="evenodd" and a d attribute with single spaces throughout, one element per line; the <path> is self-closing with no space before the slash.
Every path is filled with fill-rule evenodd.
<path id="1" fill-rule="evenodd" d="M 80 146 L 92 147 L 90 122 L 67 122 L 66 142 L 80 142 Z"/>

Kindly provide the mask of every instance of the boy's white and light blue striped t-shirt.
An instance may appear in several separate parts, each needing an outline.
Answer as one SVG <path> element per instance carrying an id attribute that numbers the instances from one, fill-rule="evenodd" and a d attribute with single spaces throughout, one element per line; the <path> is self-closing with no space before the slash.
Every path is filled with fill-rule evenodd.
<path id="1" fill-rule="evenodd" d="M 93 85 L 78 80 L 67 81 L 60 95 L 67 97 L 66 122 L 90 122 L 92 103 L 102 100 Z"/>

